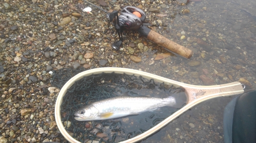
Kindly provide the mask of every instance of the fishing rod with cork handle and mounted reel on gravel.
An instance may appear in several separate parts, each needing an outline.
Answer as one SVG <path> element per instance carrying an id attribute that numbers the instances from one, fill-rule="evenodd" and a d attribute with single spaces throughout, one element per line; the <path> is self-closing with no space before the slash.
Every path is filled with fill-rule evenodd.
<path id="1" fill-rule="evenodd" d="M 138 31 L 140 35 L 146 37 L 148 40 L 155 42 L 156 44 L 175 52 L 187 59 L 189 59 L 193 52 L 185 48 L 166 37 L 160 35 L 159 33 L 151 30 L 147 26 L 143 25 L 143 22 L 146 19 L 146 14 L 139 8 L 126 6 L 121 10 L 120 15 L 118 15 L 118 11 L 114 10 L 113 12 L 107 12 L 106 10 L 84 0 L 84 2 L 104 11 L 106 14 L 106 18 L 109 19 L 110 22 L 113 22 L 115 25 L 116 33 L 118 34 L 119 40 L 115 41 L 112 44 L 112 48 L 114 50 L 119 50 L 122 45 L 123 36 L 122 33 L 124 31 Z"/>

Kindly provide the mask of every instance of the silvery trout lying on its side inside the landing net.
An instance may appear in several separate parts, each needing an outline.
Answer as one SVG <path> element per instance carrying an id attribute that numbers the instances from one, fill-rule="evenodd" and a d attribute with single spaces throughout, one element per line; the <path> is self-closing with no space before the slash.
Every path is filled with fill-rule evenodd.
<path id="1" fill-rule="evenodd" d="M 83 106 L 74 113 L 74 118 L 77 121 L 108 120 L 138 115 L 163 106 L 175 106 L 175 104 L 176 100 L 172 96 L 166 98 L 118 96 Z"/>

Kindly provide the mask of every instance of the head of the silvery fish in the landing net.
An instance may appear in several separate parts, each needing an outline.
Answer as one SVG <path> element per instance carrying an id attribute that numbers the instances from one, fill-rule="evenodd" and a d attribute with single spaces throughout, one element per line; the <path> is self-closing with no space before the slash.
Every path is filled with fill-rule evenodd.
<path id="1" fill-rule="evenodd" d="M 90 105 L 80 108 L 74 113 L 74 115 L 76 116 L 75 120 L 77 121 L 91 121 L 97 118 L 99 115 L 99 110 L 96 107 Z"/>

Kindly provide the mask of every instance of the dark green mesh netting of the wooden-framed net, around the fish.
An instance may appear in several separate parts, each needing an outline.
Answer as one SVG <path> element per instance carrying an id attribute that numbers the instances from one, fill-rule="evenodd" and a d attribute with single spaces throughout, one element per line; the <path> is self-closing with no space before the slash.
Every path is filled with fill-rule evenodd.
<path id="1" fill-rule="evenodd" d="M 70 78 L 84 70 L 81 68 L 54 71 L 51 84 L 61 89 Z M 116 96 L 164 98 L 170 95 L 182 97 L 182 102 L 185 101 L 185 94 L 180 88 L 142 76 L 102 72 L 77 80 L 67 90 L 61 104 L 61 120 L 63 124 L 71 122 L 71 126 L 66 127 L 66 130 L 80 142 L 119 142 L 154 127 L 178 108 L 165 106 L 136 116 L 101 121 L 76 121 L 74 112 L 84 105 Z"/>

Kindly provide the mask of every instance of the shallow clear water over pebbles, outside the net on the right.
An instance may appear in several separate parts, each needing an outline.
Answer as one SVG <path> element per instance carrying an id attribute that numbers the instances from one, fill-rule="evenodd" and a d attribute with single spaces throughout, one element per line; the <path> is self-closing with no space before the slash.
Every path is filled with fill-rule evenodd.
<path id="1" fill-rule="evenodd" d="M 199 76 L 206 74 L 214 79 L 215 84 L 245 78 L 250 82 L 246 84 L 245 90 L 255 89 L 255 7 L 255 1 L 206 0 L 190 1 L 186 6 L 178 6 L 176 11 L 188 9 L 190 12 L 177 13 L 173 19 L 158 17 L 167 26 L 159 26 L 154 30 L 192 49 L 194 55 L 189 60 L 172 56 L 149 65 L 150 59 L 146 55 L 156 52 L 152 51 L 140 55 L 143 62 L 139 66 L 132 64 L 126 67 L 195 85 L 204 83 L 199 77 L 191 76 L 191 72 L 197 72 Z M 171 9 L 162 9 L 166 13 L 173 13 Z M 180 40 L 182 31 L 185 32 L 184 40 Z M 207 45 L 200 45 L 197 39 L 202 39 Z M 201 65 L 190 67 L 187 63 L 191 60 L 200 61 Z M 236 68 L 240 66 L 241 69 Z M 204 72 L 205 69 L 208 73 Z M 224 142 L 223 110 L 233 97 L 220 97 L 200 103 L 142 142 Z"/>

